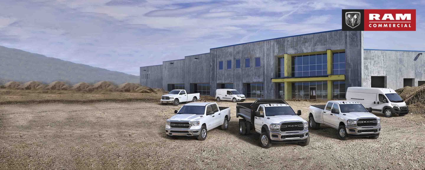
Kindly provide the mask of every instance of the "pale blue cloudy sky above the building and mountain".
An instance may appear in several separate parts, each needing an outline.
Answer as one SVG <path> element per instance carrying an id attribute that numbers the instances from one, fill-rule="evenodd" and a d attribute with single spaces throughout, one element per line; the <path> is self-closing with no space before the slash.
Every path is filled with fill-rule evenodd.
<path id="1" fill-rule="evenodd" d="M 416 9 L 416 32 L 368 49 L 425 50 L 425 0 L 1 0 L 0 45 L 139 75 L 210 48 L 341 29 L 341 9 Z"/>

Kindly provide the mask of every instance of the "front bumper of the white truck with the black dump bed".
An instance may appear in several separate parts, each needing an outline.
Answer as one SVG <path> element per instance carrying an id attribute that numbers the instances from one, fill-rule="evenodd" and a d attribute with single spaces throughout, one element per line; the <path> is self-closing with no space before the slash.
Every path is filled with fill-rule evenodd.
<path id="1" fill-rule="evenodd" d="M 299 142 L 309 137 L 309 130 L 304 130 L 303 132 L 292 132 L 292 133 L 269 131 L 269 135 L 272 141 L 287 142 L 287 143 Z"/>

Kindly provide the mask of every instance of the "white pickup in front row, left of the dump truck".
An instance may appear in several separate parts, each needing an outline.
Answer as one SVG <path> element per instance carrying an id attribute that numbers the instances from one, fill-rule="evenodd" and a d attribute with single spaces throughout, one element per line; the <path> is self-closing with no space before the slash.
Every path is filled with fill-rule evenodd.
<path id="1" fill-rule="evenodd" d="M 203 141 L 207 138 L 207 131 L 215 127 L 227 130 L 230 121 L 230 108 L 218 107 L 217 103 L 195 102 L 185 104 L 176 115 L 167 119 L 165 133 L 168 138 L 175 136 L 192 136 Z"/>

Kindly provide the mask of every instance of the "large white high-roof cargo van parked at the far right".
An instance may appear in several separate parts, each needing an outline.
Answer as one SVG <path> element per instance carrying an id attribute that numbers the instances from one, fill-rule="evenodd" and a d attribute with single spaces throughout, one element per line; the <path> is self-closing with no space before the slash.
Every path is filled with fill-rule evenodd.
<path id="1" fill-rule="evenodd" d="M 404 116 L 409 109 L 403 99 L 393 89 L 373 87 L 348 87 L 347 100 L 357 101 L 373 112 L 381 112 L 385 117 L 394 114 Z"/>

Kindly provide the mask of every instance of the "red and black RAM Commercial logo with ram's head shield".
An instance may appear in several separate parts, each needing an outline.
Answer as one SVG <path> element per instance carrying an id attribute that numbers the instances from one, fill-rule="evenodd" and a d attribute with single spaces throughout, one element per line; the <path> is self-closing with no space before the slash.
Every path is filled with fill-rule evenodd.
<path id="1" fill-rule="evenodd" d="M 343 9 L 343 31 L 416 31 L 416 9 Z"/>

